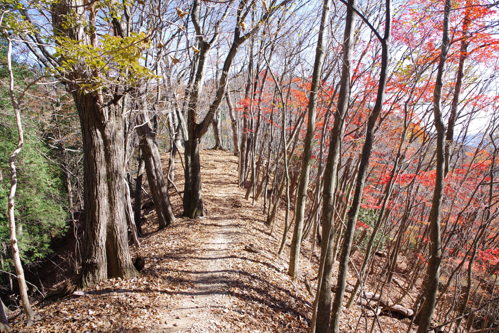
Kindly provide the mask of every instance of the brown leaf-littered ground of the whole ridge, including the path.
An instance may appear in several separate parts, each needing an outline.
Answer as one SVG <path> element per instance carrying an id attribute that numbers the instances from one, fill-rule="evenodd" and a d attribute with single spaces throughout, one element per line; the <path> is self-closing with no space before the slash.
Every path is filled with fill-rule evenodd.
<path id="1" fill-rule="evenodd" d="M 142 248 L 131 247 L 135 256 L 146 258 L 140 277 L 109 279 L 83 296 L 40 302 L 34 306 L 36 322 L 26 328 L 23 316 L 14 316 L 12 332 L 308 332 L 313 297 L 303 280 L 294 285 L 286 274 L 289 246 L 281 257 L 275 255 L 280 226 L 267 227 L 260 204 L 253 207 L 244 199 L 245 189 L 237 185 L 237 158 L 203 150 L 201 164 L 207 216 L 179 217 L 158 231 L 152 211 Z M 176 184 L 182 189 L 183 169 L 179 161 L 176 165 Z M 172 190 L 170 198 L 180 216 L 179 195 Z M 246 251 L 247 245 L 261 253 Z M 302 258 L 308 253 L 306 245 Z M 313 292 L 317 261 L 312 255 L 310 262 L 300 263 Z M 343 332 L 354 331 L 360 311 L 356 305 L 344 315 Z M 407 330 L 408 319 L 379 320 L 385 333 Z M 360 331 L 364 325 L 367 329 L 367 321 L 360 321 Z M 381 331 L 375 327 L 374 332 Z"/>

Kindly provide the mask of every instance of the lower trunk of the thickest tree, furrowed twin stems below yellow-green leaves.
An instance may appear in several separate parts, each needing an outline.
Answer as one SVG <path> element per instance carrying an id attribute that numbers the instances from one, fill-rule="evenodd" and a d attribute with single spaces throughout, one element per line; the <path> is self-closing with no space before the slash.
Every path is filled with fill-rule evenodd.
<path id="1" fill-rule="evenodd" d="M 137 275 L 128 251 L 123 188 L 123 118 L 97 96 L 73 90 L 83 138 L 85 241 L 80 284 Z"/>

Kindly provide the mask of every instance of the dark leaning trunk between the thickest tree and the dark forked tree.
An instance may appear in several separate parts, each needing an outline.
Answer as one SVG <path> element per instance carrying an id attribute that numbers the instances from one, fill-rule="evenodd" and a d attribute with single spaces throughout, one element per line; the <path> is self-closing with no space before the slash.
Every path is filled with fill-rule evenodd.
<path id="1" fill-rule="evenodd" d="M 161 158 L 158 146 L 154 142 L 154 132 L 149 126 L 149 115 L 147 112 L 144 111 L 137 114 L 137 123 L 142 124 L 142 126 L 137 127 L 140 150 L 142 150 L 147 181 L 158 216 L 159 229 L 163 229 L 175 221 L 175 216 L 170 204 L 170 197 L 168 196 Z"/>

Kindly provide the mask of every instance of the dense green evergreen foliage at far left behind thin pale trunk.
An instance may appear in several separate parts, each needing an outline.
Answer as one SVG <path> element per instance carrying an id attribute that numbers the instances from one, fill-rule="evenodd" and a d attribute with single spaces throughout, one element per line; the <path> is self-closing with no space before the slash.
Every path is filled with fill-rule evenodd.
<path id="1" fill-rule="evenodd" d="M 46 162 L 47 149 L 37 144 L 35 125 L 25 123 L 27 139 L 17 156 L 17 191 L 15 217 L 21 260 L 24 263 L 43 258 L 49 252 L 50 240 L 63 235 L 67 229 L 64 212 L 65 198 L 60 171 Z M 15 148 L 15 121 L 0 116 L 0 206 L 6 207 L 10 190 L 8 156 Z M 0 210 L 0 242 L 9 243 L 6 210 Z M 4 256 L 5 254 L 1 254 Z M 10 252 L 6 252 L 9 261 Z"/>

